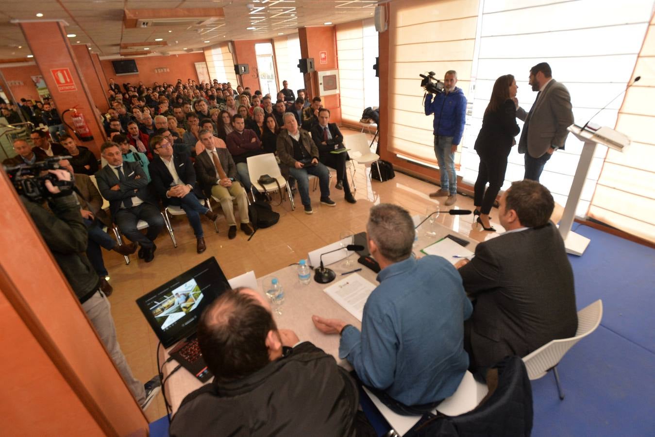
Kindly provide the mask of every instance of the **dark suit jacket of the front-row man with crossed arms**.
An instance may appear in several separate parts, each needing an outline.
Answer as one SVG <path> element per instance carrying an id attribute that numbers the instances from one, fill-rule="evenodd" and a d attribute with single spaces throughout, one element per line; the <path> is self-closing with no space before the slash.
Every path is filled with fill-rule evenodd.
<path id="1" fill-rule="evenodd" d="M 157 201 L 148 191 L 148 178 L 138 162 L 122 163 L 123 174 L 126 181 L 119 182 L 118 176 L 114 173 L 114 169 L 109 164 L 105 165 L 98 173 L 96 173 L 96 182 L 98 182 L 98 189 L 102 197 L 109 200 L 109 212 L 112 219 L 121 208 L 123 199 L 130 199 L 134 196 L 139 197 L 143 202 L 147 202 L 153 206 L 157 206 Z M 138 176 L 138 178 L 137 178 Z M 111 189 L 114 185 L 119 185 L 121 189 L 114 191 Z M 136 192 L 134 191 L 136 189 Z"/>

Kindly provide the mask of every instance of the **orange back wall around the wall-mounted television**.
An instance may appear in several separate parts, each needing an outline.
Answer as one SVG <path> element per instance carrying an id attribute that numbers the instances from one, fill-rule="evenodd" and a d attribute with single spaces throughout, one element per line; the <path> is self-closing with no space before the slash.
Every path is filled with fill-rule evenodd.
<path id="1" fill-rule="evenodd" d="M 130 59 L 126 57 L 125 59 Z M 111 65 L 111 60 L 101 60 L 100 64 L 105 72 L 107 81 L 113 78 L 117 84 L 131 83 L 136 85 L 139 81 L 143 82 L 145 86 L 152 86 L 153 83 L 166 82 L 176 83 L 178 79 L 182 79 L 186 83 L 187 79 L 198 82 L 198 73 L 196 73 L 195 62 L 205 62 L 204 52 L 185 53 L 185 54 L 172 54 L 170 56 L 145 56 L 143 58 L 134 58 L 136 67 L 139 73 L 132 75 L 117 76 L 114 72 L 114 67 Z M 168 68 L 165 73 L 155 73 L 157 68 Z M 109 89 L 109 82 L 105 84 L 105 93 Z"/>

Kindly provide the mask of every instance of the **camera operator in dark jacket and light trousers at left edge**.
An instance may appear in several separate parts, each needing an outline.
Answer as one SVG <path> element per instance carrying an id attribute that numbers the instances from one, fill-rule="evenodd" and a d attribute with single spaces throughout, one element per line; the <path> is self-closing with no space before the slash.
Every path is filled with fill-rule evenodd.
<path id="1" fill-rule="evenodd" d="M 72 175 L 65 170 L 48 170 L 58 181 L 72 181 Z M 72 184 L 70 184 L 72 186 Z M 86 251 L 86 225 L 80 214 L 80 205 L 70 187 L 62 191 L 49 180 L 45 181 L 50 210 L 36 201 L 20 195 L 35 225 L 41 232 L 52 256 L 66 276 L 68 283 L 77 295 L 84 312 L 96 328 L 111 359 L 127 383 L 130 392 L 138 400 L 141 408 L 149 406 L 160 389 L 159 375 L 141 384 L 125 360 L 116 337 L 109 301 L 100 288 L 100 278 L 91 266 Z"/>

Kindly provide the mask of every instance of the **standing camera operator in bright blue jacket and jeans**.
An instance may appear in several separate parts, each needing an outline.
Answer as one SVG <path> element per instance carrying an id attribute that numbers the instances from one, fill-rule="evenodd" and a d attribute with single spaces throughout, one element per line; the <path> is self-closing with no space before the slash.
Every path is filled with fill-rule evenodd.
<path id="1" fill-rule="evenodd" d="M 443 78 L 443 92 L 432 100 L 428 91 L 425 98 L 425 115 L 434 114 L 434 154 L 439 162 L 441 189 L 430 193 L 430 197 L 448 197 L 447 206 L 457 201 L 457 174 L 455 174 L 455 151 L 462 140 L 466 121 L 466 97 L 457 88 L 457 71 L 446 71 Z"/>

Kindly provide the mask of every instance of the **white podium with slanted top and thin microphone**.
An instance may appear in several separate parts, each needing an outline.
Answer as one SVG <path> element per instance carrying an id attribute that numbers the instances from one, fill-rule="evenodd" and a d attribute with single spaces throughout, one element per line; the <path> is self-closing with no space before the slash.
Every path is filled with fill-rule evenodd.
<path id="1" fill-rule="evenodd" d="M 564 246 L 569 254 L 582 256 L 587 246 L 589 245 L 589 238 L 576 234 L 571 231 L 571 226 L 575 219 L 576 208 L 578 208 L 578 201 L 582 193 L 582 186 L 589 173 L 589 166 L 591 166 L 591 159 L 598 144 L 607 145 L 610 149 L 624 151 L 630 144 L 630 139 L 624 134 L 616 132 L 614 129 L 608 127 L 601 127 L 597 130 L 587 126 L 582 128 L 571 124 L 568 128 L 569 132 L 574 134 L 578 140 L 584 142 L 582 153 L 580 154 L 580 162 L 576 169 L 575 176 L 573 176 L 573 183 L 569 191 L 569 198 L 564 207 L 564 214 L 559 222 L 559 234 L 564 240 Z"/>

